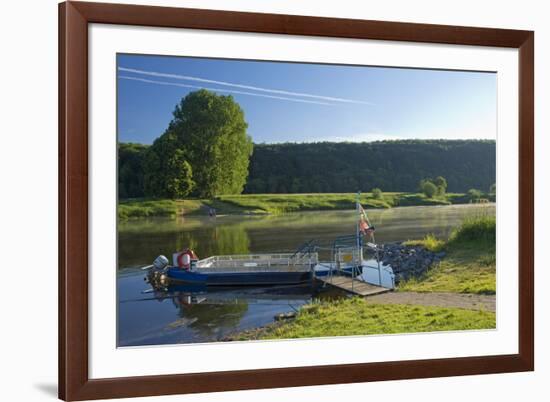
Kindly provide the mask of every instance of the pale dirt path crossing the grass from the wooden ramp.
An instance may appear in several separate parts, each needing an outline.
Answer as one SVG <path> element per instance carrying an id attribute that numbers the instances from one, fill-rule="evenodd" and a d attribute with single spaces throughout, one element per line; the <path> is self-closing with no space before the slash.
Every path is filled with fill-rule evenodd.
<path id="1" fill-rule="evenodd" d="M 369 296 L 368 302 L 381 304 L 420 304 L 423 306 L 457 307 L 468 310 L 496 311 L 494 295 L 464 293 L 388 292 Z"/>

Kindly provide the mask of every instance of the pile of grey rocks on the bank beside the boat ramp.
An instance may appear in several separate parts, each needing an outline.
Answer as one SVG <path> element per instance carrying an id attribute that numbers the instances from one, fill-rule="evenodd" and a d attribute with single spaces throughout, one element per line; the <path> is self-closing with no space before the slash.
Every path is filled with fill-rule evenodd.
<path id="1" fill-rule="evenodd" d="M 445 252 L 434 253 L 422 246 L 406 246 L 403 243 L 386 243 L 380 259 L 390 265 L 395 274 L 395 282 L 410 278 L 420 278 L 435 264 L 445 257 Z"/>

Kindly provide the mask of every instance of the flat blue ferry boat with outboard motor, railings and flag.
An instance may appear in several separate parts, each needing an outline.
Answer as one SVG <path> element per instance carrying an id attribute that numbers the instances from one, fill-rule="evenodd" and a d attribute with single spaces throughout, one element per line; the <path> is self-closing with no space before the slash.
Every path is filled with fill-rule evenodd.
<path id="1" fill-rule="evenodd" d="M 186 249 L 173 256 L 173 265 L 159 256 L 149 269 L 148 279 L 153 287 L 173 284 L 202 286 L 262 286 L 287 285 L 312 281 L 315 277 L 347 275 L 374 285 L 394 288 L 391 267 L 379 261 L 379 247 L 374 244 L 374 226 L 365 210 L 356 203 L 359 221 L 354 235 L 338 237 L 332 247 L 331 261 L 319 262 L 314 241 L 306 242 L 296 252 L 288 254 L 220 255 L 199 260 Z M 371 242 L 364 244 L 363 237 Z M 374 250 L 376 259 L 365 260 L 364 249 Z"/>

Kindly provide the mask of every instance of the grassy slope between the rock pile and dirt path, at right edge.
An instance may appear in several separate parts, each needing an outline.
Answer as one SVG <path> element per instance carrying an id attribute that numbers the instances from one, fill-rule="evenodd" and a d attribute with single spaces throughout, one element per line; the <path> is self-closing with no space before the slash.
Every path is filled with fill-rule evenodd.
<path id="1" fill-rule="evenodd" d="M 446 243 L 428 236 L 408 244 L 444 250 L 445 258 L 424 277 L 399 284 L 399 291 L 496 293 L 496 218 L 467 218 Z"/>

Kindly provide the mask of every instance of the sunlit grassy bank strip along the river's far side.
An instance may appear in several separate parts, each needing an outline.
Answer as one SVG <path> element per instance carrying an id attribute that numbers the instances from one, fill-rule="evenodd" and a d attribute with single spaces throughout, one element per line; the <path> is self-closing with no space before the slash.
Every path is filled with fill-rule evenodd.
<path id="1" fill-rule="evenodd" d="M 300 211 L 351 210 L 355 208 L 353 193 L 316 194 L 242 194 L 220 196 L 214 199 L 188 200 L 121 200 L 118 216 L 121 219 L 152 216 L 206 215 L 213 207 L 218 215 L 280 214 Z M 469 202 L 465 194 L 448 193 L 428 198 L 419 193 L 384 193 L 376 198 L 372 193 L 361 194 L 365 208 L 392 208 L 397 206 L 450 205 Z"/>

